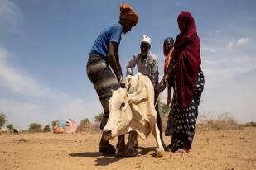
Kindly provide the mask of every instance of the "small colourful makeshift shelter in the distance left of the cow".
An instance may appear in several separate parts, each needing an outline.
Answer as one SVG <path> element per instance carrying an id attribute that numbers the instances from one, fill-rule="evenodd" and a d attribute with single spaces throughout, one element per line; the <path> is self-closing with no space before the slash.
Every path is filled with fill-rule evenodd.
<path id="1" fill-rule="evenodd" d="M 75 123 L 75 120 L 72 120 L 72 119 L 57 120 L 56 124 L 53 127 L 53 133 L 55 134 L 61 134 L 61 133 L 75 134 L 76 131 L 77 131 L 77 125 Z"/>

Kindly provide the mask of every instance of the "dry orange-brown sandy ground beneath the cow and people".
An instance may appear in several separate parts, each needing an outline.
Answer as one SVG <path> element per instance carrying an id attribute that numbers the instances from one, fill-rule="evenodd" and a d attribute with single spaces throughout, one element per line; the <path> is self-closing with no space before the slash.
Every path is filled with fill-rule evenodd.
<path id="1" fill-rule="evenodd" d="M 166 152 L 162 158 L 152 156 L 152 135 L 139 139 L 142 153 L 133 158 L 103 156 L 98 152 L 99 138 L 99 133 L 0 135 L 0 169 L 256 169 L 253 127 L 197 131 L 190 153 Z M 170 138 L 164 140 L 167 144 Z"/>

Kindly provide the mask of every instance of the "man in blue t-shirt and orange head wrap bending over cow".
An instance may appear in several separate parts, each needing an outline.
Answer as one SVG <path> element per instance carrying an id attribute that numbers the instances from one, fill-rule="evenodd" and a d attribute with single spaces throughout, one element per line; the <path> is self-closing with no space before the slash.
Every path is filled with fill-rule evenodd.
<path id="1" fill-rule="evenodd" d="M 123 73 L 118 55 L 121 35 L 131 31 L 132 27 L 138 23 L 138 14 L 134 11 L 133 7 L 122 4 L 120 11 L 119 22 L 105 28 L 95 40 L 86 66 L 88 78 L 94 84 L 104 109 L 103 119 L 100 123 L 101 130 L 104 129 L 109 118 L 111 91 L 118 89 L 121 87 L 121 83 L 123 83 Z M 124 144 L 124 135 L 118 137 L 118 144 L 120 143 Z M 105 141 L 101 137 L 99 152 L 114 154 L 115 148 L 109 144 L 109 141 Z"/>

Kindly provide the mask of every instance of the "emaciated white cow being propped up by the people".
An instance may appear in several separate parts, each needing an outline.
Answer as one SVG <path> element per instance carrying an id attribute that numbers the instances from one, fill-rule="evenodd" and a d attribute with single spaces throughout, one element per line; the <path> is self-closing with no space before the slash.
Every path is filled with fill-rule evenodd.
<path id="1" fill-rule="evenodd" d="M 130 131 L 142 139 L 152 132 L 157 140 L 156 153 L 162 156 L 164 148 L 157 127 L 154 107 L 154 89 L 147 76 L 138 73 L 126 78 L 126 88 L 118 88 L 109 100 L 109 120 L 104 127 L 104 139 L 113 139 Z M 130 139 L 128 140 L 129 143 Z M 133 144 L 128 144 L 128 147 Z"/>

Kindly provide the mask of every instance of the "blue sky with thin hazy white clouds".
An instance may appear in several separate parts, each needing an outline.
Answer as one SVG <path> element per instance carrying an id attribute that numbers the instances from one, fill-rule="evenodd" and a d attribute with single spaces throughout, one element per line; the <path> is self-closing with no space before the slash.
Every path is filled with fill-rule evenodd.
<path id="1" fill-rule="evenodd" d="M 27 129 L 32 122 L 94 120 L 102 108 L 85 65 L 97 35 L 118 22 L 124 2 L 138 11 L 139 22 L 122 35 L 123 73 L 146 34 L 162 77 L 163 40 L 176 39 L 176 17 L 188 10 L 205 73 L 200 115 L 229 112 L 239 122 L 256 120 L 254 0 L 0 0 L 0 112 L 7 123 Z"/>

